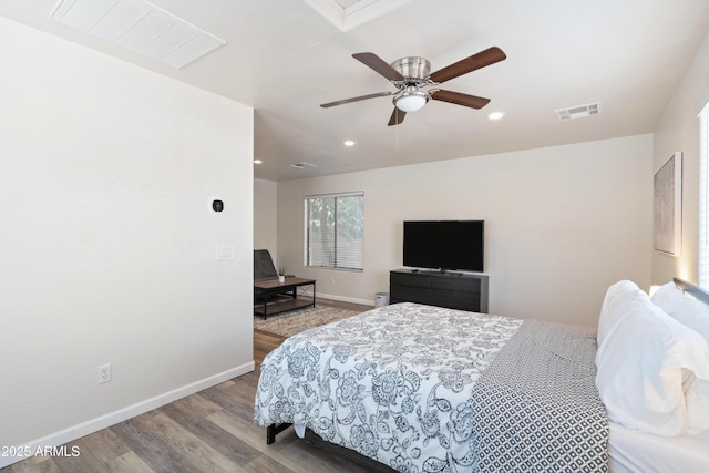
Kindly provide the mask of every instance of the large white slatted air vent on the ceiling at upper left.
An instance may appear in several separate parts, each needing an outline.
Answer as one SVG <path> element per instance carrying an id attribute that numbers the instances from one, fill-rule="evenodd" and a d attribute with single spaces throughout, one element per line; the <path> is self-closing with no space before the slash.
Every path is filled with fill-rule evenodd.
<path id="1" fill-rule="evenodd" d="M 143 0 L 60 0 L 50 18 L 176 69 L 226 44 Z"/>

